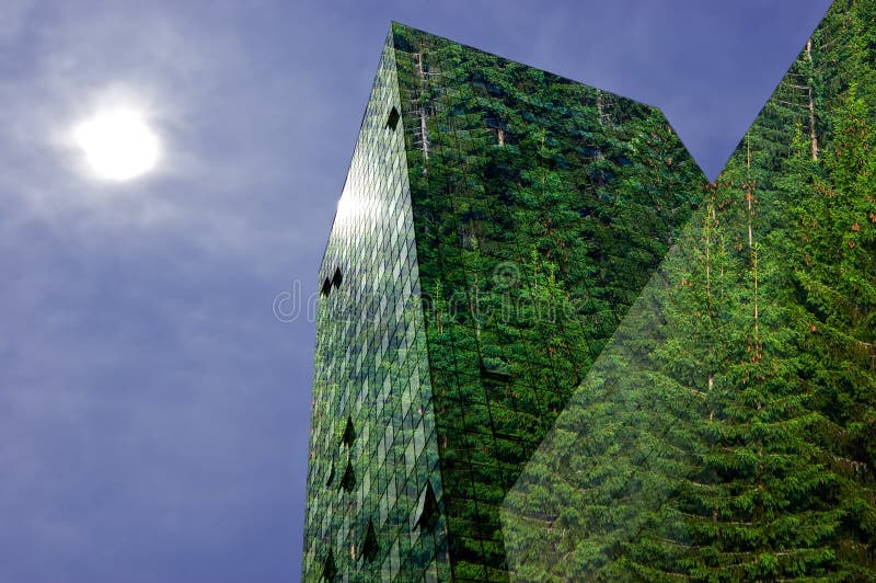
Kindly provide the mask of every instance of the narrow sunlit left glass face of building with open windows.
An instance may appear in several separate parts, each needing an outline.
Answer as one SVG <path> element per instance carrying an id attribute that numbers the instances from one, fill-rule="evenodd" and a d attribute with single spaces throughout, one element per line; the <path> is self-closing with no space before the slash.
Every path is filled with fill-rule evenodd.
<path id="1" fill-rule="evenodd" d="M 388 43 L 320 271 L 304 581 L 448 579 L 400 110 Z"/>

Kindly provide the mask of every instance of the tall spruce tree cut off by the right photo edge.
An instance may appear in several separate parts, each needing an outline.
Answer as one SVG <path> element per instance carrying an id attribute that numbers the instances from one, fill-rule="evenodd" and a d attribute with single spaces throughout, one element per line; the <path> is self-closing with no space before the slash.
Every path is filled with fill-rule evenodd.
<path id="1" fill-rule="evenodd" d="M 876 535 L 876 136 L 872 107 L 852 85 L 833 116 L 822 175 L 797 210 L 800 262 L 795 270 L 809 330 L 808 375 L 827 418 L 829 462 L 843 478 L 843 528 L 837 542 L 846 568 L 874 569 Z M 856 571 L 854 571 L 856 570 Z"/>

